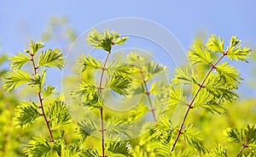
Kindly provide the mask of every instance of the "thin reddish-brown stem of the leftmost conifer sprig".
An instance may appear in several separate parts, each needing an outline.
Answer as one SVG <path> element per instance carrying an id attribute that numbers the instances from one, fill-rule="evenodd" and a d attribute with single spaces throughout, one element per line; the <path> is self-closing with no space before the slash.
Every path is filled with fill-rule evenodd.
<path id="1" fill-rule="evenodd" d="M 33 69 L 34 69 L 34 75 L 37 75 L 38 66 L 35 65 L 34 55 L 33 54 L 30 54 L 30 55 L 32 57 L 31 61 L 32 61 Z M 43 103 L 43 98 L 41 96 L 41 91 L 38 91 L 38 98 L 39 98 L 39 102 L 40 102 L 39 108 L 42 110 L 42 115 L 44 116 L 44 121 L 45 121 L 46 126 L 48 128 L 49 137 L 50 137 L 49 142 L 54 142 L 54 137 L 52 135 L 53 130 L 50 129 L 50 127 L 49 127 L 49 122 L 50 121 L 47 119 L 47 117 L 45 115 L 45 112 L 44 112 L 44 103 Z M 58 155 L 61 156 L 61 153 L 58 153 Z"/>

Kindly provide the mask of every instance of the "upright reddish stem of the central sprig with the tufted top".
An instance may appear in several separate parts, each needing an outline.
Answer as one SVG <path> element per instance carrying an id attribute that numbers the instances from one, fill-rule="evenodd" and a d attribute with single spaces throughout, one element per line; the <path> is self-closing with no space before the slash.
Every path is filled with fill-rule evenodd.
<path id="1" fill-rule="evenodd" d="M 107 57 L 106 57 L 106 59 L 104 61 L 103 67 L 102 67 L 102 74 L 101 74 L 101 79 L 100 79 L 100 87 L 98 88 L 100 94 L 102 93 L 103 75 L 104 75 L 104 71 L 106 70 L 106 65 L 107 65 L 108 57 L 109 57 L 110 53 L 111 52 L 109 51 L 108 55 L 107 55 Z M 104 123 L 103 123 L 103 108 L 100 107 L 99 109 L 101 111 L 101 126 L 102 126 L 102 129 L 101 129 L 101 132 L 102 132 L 102 157 L 105 157 L 105 143 L 104 143 L 104 132 L 105 132 L 105 129 L 104 129 Z"/>

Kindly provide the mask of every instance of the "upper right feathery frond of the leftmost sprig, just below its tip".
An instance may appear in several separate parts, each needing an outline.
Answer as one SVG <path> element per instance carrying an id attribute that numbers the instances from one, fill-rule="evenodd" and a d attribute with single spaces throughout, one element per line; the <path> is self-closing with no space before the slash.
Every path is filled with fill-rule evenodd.
<path id="1" fill-rule="evenodd" d="M 38 65 L 45 67 L 57 67 L 61 69 L 64 66 L 63 54 L 58 48 L 42 51 L 39 56 Z"/>

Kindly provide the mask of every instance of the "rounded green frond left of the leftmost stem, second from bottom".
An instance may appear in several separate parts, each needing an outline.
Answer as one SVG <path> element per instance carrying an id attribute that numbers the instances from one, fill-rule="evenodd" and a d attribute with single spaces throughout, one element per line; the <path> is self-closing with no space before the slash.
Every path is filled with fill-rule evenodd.
<path id="1" fill-rule="evenodd" d="M 38 112 L 38 105 L 34 102 L 23 102 L 15 109 L 14 123 L 18 127 L 27 127 L 38 119 L 40 113 Z"/>

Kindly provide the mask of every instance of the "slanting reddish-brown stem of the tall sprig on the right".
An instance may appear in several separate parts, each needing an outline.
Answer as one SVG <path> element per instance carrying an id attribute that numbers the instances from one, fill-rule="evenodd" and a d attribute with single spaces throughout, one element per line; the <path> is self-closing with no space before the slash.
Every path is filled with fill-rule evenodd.
<path id="1" fill-rule="evenodd" d="M 174 150 L 174 148 L 175 148 L 175 146 L 176 146 L 176 143 L 177 143 L 178 138 L 179 138 L 180 135 L 182 134 L 183 126 L 184 126 L 185 121 L 186 121 L 186 119 L 187 119 L 187 117 L 188 117 L 188 115 L 189 115 L 189 110 L 190 110 L 190 109 L 193 109 L 193 106 L 192 106 L 192 105 L 193 105 L 194 102 L 195 102 L 195 98 L 197 97 L 198 93 L 200 93 L 201 88 L 204 86 L 204 83 L 207 81 L 207 78 L 208 78 L 208 76 L 210 76 L 212 70 L 216 69 L 216 65 L 218 64 L 218 62 L 219 62 L 221 59 L 223 59 L 224 56 L 227 55 L 227 53 L 228 53 L 228 52 L 223 53 L 223 55 L 216 61 L 215 64 L 211 64 L 212 67 L 211 67 L 210 70 L 208 70 L 207 76 L 205 76 L 205 78 L 203 79 L 203 81 L 202 81 L 201 84 L 200 84 L 200 87 L 197 89 L 197 91 L 196 91 L 194 97 L 192 98 L 191 102 L 188 104 L 188 109 L 186 110 L 186 113 L 185 113 L 185 115 L 184 115 L 184 117 L 183 117 L 183 121 L 182 121 L 181 125 L 179 126 L 179 128 L 178 128 L 178 130 L 177 130 L 177 136 L 176 136 L 176 138 L 175 138 L 175 140 L 174 140 L 174 143 L 172 144 L 171 153 L 172 153 L 172 151 Z"/>

